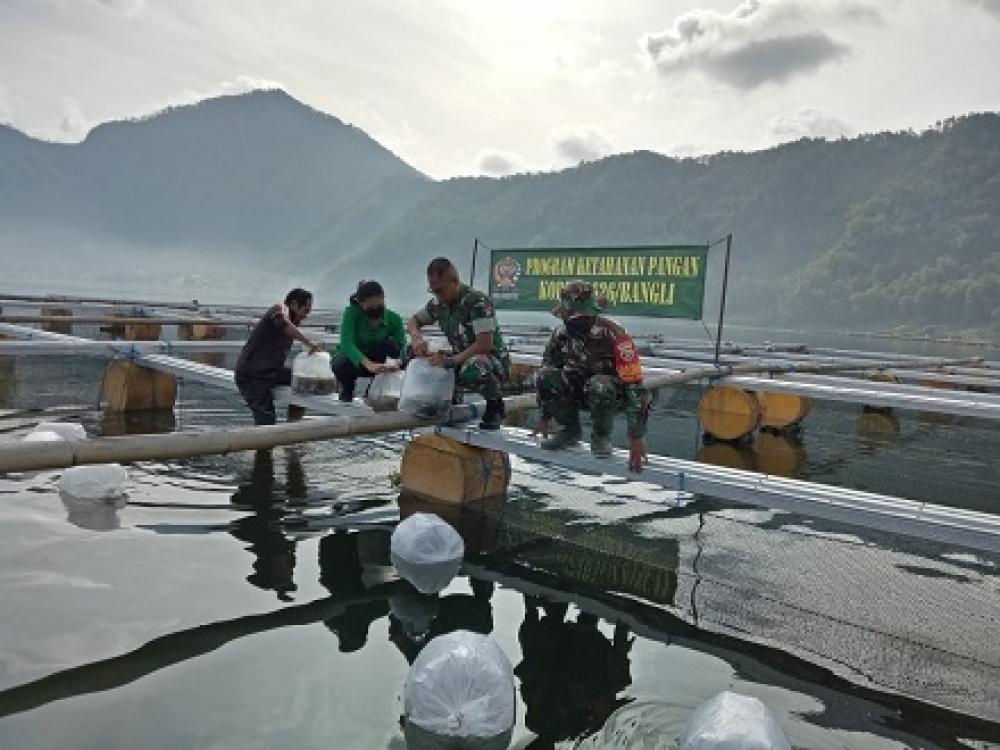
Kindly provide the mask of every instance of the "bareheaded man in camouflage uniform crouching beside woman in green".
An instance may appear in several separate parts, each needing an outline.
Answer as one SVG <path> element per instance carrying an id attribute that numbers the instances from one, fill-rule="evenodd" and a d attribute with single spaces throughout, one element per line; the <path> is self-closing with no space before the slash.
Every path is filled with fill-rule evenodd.
<path id="1" fill-rule="evenodd" d="M 430 357 L 431 364 L 437 367 L 458 370 L 459 389 L 480 393 L 486 399 L 480 428 L 499 429 L 505 415 L 500 388 L 510 373 L 510 357 L 500 335 L 493 300 L 461 283 L 457 269 L 447 258 L 431 261 L 427 282 L 434 299 L 406 324 L 413 356 Z M 451 344 L 451 354 L 430 353 L 420 329 L 432 323 L 441 327 Z"/>

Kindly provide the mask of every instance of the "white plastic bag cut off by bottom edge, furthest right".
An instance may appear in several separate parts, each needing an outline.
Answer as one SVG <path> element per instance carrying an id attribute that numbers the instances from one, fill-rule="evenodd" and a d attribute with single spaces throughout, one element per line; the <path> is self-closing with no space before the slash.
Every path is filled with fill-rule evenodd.
<path id="1" fill-rule="evenodd" d="M 791 745 L 767 706 L 727 690 L 695 710 L 681 750 L 791 750 Z"/>

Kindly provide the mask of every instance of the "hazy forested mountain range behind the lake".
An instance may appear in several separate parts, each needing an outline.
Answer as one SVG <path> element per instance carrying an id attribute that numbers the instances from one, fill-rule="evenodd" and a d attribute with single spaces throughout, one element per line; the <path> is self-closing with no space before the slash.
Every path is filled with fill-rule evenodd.
<path id="1" fill-rule="evenodd" d="M 167 280 L 203 298 L 264 301 L 303 283 L 337 305 L 375 277 L 409 309 L 425 296 L 427 260 L 450 255 L 467 269 L 475 237 L 614 245 L 732 232 L 734 319 L 1000 330 L 998 227 L 996 114 L 923 133 L 697 159 L 636 152 L 440 182 L 278 91 L 102 125 L 76 145 L 0 129 L 0 252 L 25 273 L 51 272 L 56 259 L 91 280 L 103 269 L 119 292 Z"/>

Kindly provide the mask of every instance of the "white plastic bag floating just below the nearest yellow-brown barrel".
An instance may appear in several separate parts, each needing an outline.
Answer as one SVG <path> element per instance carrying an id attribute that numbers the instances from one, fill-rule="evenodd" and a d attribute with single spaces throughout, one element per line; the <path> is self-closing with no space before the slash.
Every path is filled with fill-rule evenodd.
<path id="1" fill-rule="evenodd" d="M 390 557 L 396 571 L 422 594 L 436 594 L 458 575 L 465 543 L 431 513 L 414 513 L 392 532 Z"/>

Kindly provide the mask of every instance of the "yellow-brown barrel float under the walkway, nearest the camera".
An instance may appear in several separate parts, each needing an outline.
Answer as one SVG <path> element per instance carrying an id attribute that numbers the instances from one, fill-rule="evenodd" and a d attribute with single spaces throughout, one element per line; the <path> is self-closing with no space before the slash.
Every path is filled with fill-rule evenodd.
<path id="1" fill-rule="evenodd" d="M 507 492 L 510 460 L 441 435 L 418 435 L 403 453 L 400 483 L 405 492 L 431 502 L 464 505 Z"/>

